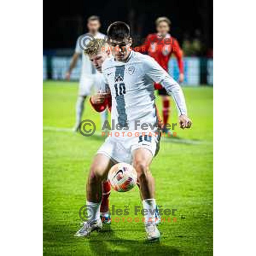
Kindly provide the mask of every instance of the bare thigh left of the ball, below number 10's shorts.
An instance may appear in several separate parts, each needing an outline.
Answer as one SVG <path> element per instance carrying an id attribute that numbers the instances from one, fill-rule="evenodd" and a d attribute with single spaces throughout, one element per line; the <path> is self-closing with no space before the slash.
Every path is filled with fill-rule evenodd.
<path id="1" fill-rule="evenodd" d="M 108 171 L 113 165 L 114 162 L 105 154 L 96 154 L 90 168 L 90 177 L 105 180 L 108 176 Z"/>

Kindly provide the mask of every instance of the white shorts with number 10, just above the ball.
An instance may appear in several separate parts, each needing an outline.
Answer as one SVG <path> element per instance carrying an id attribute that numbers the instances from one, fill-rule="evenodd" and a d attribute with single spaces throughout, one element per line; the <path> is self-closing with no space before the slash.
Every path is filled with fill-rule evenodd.
<path id="1" fill-rule="evenodd" d="M 114 131 L 112 131 L 113 137 L 107 137 L 105 143 L 97 151 L 97 154 L 104 154 L 116 163 L 129 164 L 131 164 L 133 160 L 133 151 L 138 148 L 148 149 L 153 157 L 157 155 L 160 146 L 160 135 L 155 136 L 152 133 L 151 137 L 135 137 L 135 132 L 131 133 L 131 137 L 121 137 L 121 132 L 119 137 L 114 137 Z M 127 131 L 125 132 L 125 134 L 127 134 Z"/>

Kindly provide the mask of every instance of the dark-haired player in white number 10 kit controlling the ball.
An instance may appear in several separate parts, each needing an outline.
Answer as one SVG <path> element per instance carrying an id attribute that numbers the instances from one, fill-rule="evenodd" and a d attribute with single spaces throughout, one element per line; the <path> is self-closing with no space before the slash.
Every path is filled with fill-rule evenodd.
<path id="1" fill-rule="evenodd" d="M 148 240 L 155 241 L 160 239 L 160 232 L 154 221 L 154 178 L 149 166 L 159 148 L 159 130 L 155 125 L 157 113 L 153 82 L 161 82 L 166 91 L 172 94 L 178 109 L 180 127 L 190 128 L 192 122 L 187 117 L 186 102 L 179 84 L 153 58 L 130 51 L 129 26 L 123 22 L 112 23 L 108 28 L 108 37 L 111 45 L 119 50 L 113 50 L 113 57 L 103 62 L 102 72 L 111 90 L 111 119 L 118 126 L 112 127 L 112 136 L 105 140 L 93 160 L 87 180 L 87 205 L 93 209 L 94 215 L 84 222 L 76 235 L 88 236 L 102 228 L 99 218 L 102 181 L 106 179 L 113 164 L 125 162 L 132 163 L 137 171 L 143 208 L 148 210 L 145 231 Z M 151 128 L 145 130 L 142 124 L 151 125 Z M 115 132 L 124 135 L 115 137 Z M 132 134 L 131 137 L 128 132 Z"/>

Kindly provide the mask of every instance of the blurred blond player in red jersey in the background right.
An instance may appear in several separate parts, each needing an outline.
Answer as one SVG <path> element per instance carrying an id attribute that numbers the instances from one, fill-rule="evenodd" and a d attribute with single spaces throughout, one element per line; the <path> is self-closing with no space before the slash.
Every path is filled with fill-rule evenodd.
<path id="1" fill-rule="evenodd" d="M 156 20 L 157 33 L 147 36 L 144 44 L 139 47 L 140 52 L 147 52 L 153 57 L 164 70 L 168 71 L 168 62 L 171 55 L 174 54 L 177 58 L 178 67 L 180 70 L 179 82 L 184 80 L 184 67 L 182 59 L 182 50 L 175 38 L 168 32 L 170 30 L 171 21 L 167 17 L 159 17 Z M 162 98 L 163 102 L 163 131 L 167 132 L 166 124 L 170 112 L 170 100 L 166 90 L 161 84 L 154 84 L 155 89 Z"/>

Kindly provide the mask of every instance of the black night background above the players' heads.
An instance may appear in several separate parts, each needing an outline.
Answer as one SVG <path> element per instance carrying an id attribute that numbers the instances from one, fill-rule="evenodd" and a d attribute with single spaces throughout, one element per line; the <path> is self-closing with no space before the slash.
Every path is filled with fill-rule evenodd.
<path id="1" fill-rule="evenodd" d="M 172 21 L 171 35 L 181 45 L 185 40 L 200 40 L 201 50 L 190 55 L 212 56 L 213 53 L 212 0 L 44 1 L 44 49 L 74 48 L 77 37 L 86 32 L 90 15 L 100 16 L 103 33 L 111 22 L 122 20 L 131 25 L 133 35 L 141 38 L 155 31 L 157 17 L 167 16 Z"/>

